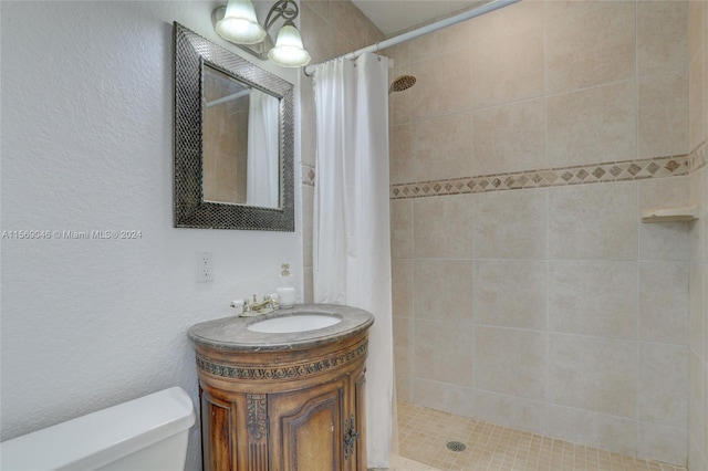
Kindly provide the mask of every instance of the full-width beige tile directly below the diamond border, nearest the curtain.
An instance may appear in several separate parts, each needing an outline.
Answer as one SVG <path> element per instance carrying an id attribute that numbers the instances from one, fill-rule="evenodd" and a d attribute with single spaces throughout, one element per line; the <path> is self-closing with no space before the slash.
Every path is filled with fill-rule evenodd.
<path id="1" fill-rule="evenodd" d="M 471 259 L 473 211 L 471 195 L 414 200 L 415 257 Z"/>

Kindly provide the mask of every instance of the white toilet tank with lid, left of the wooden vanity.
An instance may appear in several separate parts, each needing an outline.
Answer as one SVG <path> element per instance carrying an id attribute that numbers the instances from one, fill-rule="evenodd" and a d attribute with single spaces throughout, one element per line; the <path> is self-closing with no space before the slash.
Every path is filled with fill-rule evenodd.
<path id="1" fill-rule="evenodd" d="M 195 408 L 179 387 L 0 443 L 3 471 L 184 470 Z"/>

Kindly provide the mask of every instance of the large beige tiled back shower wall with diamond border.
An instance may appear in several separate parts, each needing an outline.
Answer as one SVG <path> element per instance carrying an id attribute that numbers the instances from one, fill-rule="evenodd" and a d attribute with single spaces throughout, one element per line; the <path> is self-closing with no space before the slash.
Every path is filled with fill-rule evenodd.
<path id="1" fill-rule="evenodd" d="M 705 179 L 693 3 L 524 1 L 387 51 L 418 78 L 391 102 L 399 398 L 686 464 L 706 219 L 639 214 Z"/>

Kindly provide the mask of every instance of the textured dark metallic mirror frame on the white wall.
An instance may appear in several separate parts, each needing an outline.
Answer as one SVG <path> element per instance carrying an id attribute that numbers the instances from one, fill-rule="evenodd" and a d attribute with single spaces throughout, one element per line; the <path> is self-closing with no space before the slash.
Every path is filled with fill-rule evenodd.
<path id="1" fill-rule="evenodd" d="M 293 85 L 174 23 L 176 228 L 295 230 Z M 202 64 L 280 98 L 280 208 L 207 202 L 202 190 Z"/>

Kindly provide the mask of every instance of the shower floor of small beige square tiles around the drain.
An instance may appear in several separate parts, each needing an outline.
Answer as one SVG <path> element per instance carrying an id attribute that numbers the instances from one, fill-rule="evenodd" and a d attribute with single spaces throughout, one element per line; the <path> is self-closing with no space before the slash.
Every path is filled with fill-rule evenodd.
<path id="1" fill-rule="evenodd" d="M 456 452 L 448 441 L 467 448 Z M 454 416 L 398 401 L 402 457 L 424 465 L 392 464 L 392 471 L 686 471 L 656 461 L 623 457 L 568 441 Z"/>

